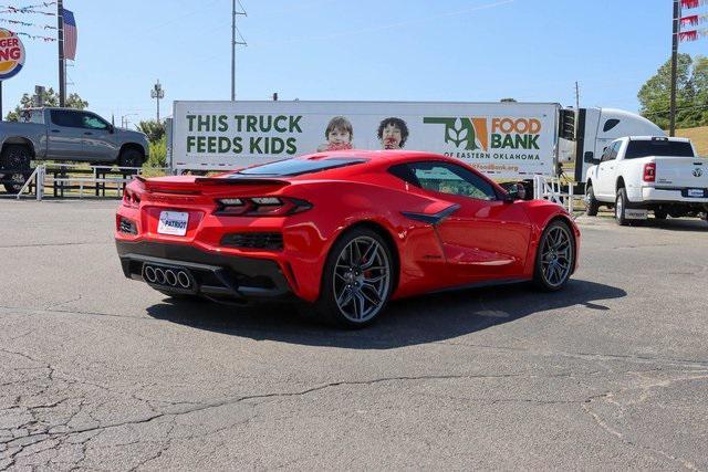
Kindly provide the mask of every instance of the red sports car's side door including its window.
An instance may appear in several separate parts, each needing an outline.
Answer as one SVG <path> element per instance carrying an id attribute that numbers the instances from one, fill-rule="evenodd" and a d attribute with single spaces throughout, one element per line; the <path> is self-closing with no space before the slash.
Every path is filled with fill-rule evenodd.
<path id="1" fill-rule="evenodd" d="M 420 188 L 457 204 L 436 223 L 450 271 L 459 283 L 523 274 L 531 224 L 519 202 L 504 202 L 475 171 L 451 162 L 409 164 Z"/>

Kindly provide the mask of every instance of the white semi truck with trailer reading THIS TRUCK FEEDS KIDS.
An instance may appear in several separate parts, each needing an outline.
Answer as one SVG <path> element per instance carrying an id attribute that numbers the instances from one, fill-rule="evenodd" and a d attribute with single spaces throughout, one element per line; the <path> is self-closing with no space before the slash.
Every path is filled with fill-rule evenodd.
<path id="1" fill-rule="evenodd" d="M 575 159 L 576 181 L 606 143 L 663 136 L 649 120 L 558 103 L 187 102 L 174 103 L 170 167 L 227 170 L 340 149 L 444 154 L 500 180 L 553 177 Z"/>

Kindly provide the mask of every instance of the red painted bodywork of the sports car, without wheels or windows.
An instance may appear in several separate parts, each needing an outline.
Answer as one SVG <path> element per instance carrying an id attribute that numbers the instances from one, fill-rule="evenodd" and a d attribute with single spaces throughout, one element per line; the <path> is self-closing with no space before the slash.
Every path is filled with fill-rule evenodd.
<path id="1" fill-rule="evenodd" d="M 572 228 L 577 255 L 580 231 L 561 206 L 543 200 L 488 201 L 430 191 L 388 171 L 403 162 L 438 160 L 480 175 L 457 159 L 413 151 L 351 150 L 298 159 L 343 157 L 366 161 L 291 177 L 239 180 L 229 179 L 226 174 L 214 178 L 134 180 L 127 186 L 116 216 L 115 239 L 126 276 L 140 279 L 124 259 L 139 255 L 144 247 L 187 247 L 225 260 L 274 261 L 289 291 L 313 302 L 320 295 L 330 248 L 355 224 L 375 228 L 389 241 L 398 268 L 393 297 L 482 282 L 530 280 L 540 237 L 556 218 Z M 506 195 L 501 187 L 483 178 L 500 196 Z M 282 217 L 217 214 L 218 199 L 248 197 L 292 198 L 310 202 L 312 208 Z M 452 208 L 455 211 L 435 224 L 424 221 L 425 216 Z M 158 233 L 159 214 L 165 210 L 188 212 L 185 235 Z M 121 230 L 122 219 L 135 224 L 136 234 Z M 225 234 L 233 232 L 281 233 L 282 249 L 222 244 Z"/>

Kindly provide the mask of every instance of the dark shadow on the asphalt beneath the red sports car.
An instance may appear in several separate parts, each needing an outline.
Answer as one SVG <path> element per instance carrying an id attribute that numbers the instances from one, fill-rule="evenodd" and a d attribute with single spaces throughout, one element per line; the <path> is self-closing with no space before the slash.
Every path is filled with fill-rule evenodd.
<path id="1" fill-rule="evenodd" d="M 372 326 L 336 329 L 309 322 L 292 305 L 235 307 L 211 302 L 165 300 L 147 308 L 154 318 L 257 340 L 352 349 L 391 349 L 455 338 L 539 312 L 584 305 L 607 311 L 602 301 L 624 297 L 610 285 L 571 280 L 564 290 L 542 293 L 530 284 L 473 289 L 396 301 Z"/>

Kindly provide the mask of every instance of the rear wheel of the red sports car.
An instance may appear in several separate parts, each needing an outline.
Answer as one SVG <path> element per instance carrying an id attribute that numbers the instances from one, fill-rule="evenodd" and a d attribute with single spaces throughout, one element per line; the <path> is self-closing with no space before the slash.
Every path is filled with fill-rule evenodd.
<path id="1" fill-rule="evenodd" d="M 394 286 L 394 259 L 386 241 L 367 228 L 345 232 L 327 254 L 320 297 L 323 322 L 362 328 L 384 312 Z"/>

